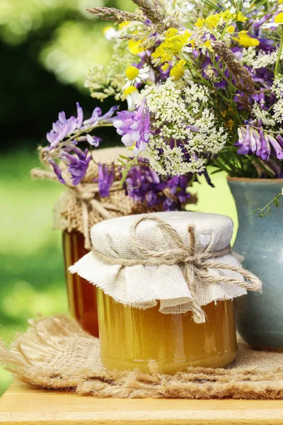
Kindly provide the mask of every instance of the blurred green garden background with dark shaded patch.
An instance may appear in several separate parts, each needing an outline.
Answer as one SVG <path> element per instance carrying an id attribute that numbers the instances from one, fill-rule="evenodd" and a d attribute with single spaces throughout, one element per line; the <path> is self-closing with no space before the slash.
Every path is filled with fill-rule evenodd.
<path id="1" fill-rule="evenodd" d="M 32 181 L 30 169 L 39 165 L 36 148 L 59 111 L 75 113 L 76 101 L 86 113 L 96 106 L 83 78 L 111 55 L 102 35 L 108 24 L 84 9 L 103 5 L 134 8 L 130 0 L 0 0 L 0 337 L 7 342 L 37 313 L 67 312 L 61 234 L 52 230 L 52 207 L 64 188 Z M 105 145 L 113 137 L 108 129 Z M 236 221 L 226 176 L 213 182 L 214 189 L 195 184 L 199 203 L 191 209 Z M 11 380 L 0 367 L 0 395 Z"/>

